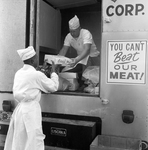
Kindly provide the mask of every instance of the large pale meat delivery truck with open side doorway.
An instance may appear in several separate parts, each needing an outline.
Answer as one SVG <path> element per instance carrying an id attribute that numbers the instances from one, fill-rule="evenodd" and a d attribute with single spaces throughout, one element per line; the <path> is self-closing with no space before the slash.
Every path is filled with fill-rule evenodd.
<path id="1" fill-rule="evenodd" d="M 148 148 L 147 0 L 0 0 L 0 3 L 0 110 L 4 100 L 16 105 L 13 78 L 23 66 L 16 50 L 34 46 L 38 65 L 42 65 L 46 54 L 58 54 L 69 32 L 68 21 L 77 15 L 81 27 L 91 31 L 100 51 L 100 59 L 95 60 L 95 66 L 99 66 L 99 93 L 43 93 L 40 104 L 46 136 L 51 132 L 65 137 L 69 131 L 50 123 L 66 120 L 68 124 L 67 120 L 77 120 L 77 129 L 81 120 L 84 124 L 97 122 L 89 146 L 100 135 L 117 138 L 118 145 L 125 142 L 121 142 L 122 138 L 137 139 L 139 149 Z M 72 50 L 68 52 L 68 56 L 74 55 Z M 58 149 L 59 145 L 53 146 Z"/>

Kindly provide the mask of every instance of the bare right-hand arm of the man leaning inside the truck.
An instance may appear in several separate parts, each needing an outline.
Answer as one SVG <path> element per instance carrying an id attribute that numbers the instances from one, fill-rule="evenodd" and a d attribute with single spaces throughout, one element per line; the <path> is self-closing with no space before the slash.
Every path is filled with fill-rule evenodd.
<path id="1" fill-rule="evenodd" d="M 71 67 L 74 67 L 79 61 L 87 57 L 90 54 L 90 48 L 91 48 L 91 44 L 84 44 L 84 49 L 81 55 L 78 55 L 76 58 L 74 58 L 73 62 L 70 63 L 69 65 Z"/>

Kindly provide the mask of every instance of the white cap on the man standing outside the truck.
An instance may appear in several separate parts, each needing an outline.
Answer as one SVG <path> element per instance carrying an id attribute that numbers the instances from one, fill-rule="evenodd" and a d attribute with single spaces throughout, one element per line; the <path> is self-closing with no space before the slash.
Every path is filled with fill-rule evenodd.
<path id="1" fill-rule="evenodd" d="M 27 60 L 36 54 L 33 46 L 29 46 L 25 49 L 17 50 L 17 53 L 19 54 L 19 56 L 22 60 Z"/>

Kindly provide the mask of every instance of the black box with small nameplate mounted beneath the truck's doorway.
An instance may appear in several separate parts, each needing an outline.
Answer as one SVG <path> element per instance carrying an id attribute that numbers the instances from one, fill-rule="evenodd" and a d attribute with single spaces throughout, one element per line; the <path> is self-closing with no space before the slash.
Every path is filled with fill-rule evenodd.
<path id="1" fill-rule="evenodd" d="M 45 145 L 89 150 L 96 137 L 96 122 L 43 117 Z"/>

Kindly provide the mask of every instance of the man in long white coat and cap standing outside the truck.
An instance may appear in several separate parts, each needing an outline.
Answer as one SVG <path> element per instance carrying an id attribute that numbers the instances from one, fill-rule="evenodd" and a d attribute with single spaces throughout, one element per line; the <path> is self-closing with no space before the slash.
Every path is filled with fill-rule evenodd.
<path id="1" fill-rule="evenodd" d="M 44 150 L 45 135 L 42 132 L 40 108 L 41 91 L 58 90 L 59 78 L 52 65 L 51 78 L 37 71 L 37 56 L 34 48 L 17 51 L 24 62 L 14 77 L 13 95 L 18 102 L 10 121 L 4 150 Z"/>

